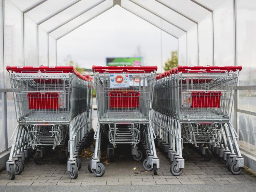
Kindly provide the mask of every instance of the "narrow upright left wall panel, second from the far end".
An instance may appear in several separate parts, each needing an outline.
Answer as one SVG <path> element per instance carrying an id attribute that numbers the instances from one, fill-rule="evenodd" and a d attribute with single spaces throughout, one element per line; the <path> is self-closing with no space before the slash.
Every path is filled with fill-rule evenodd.
<path id="1" fill-rule="evenodd" d="M 46 31 L 38 26 L 38 65 L 48 66 L 48 36 Z"/>

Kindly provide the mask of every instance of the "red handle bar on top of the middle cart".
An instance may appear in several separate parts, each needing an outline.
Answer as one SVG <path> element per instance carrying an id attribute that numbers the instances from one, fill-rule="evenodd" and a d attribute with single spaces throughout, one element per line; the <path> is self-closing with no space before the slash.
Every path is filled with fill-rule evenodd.
<path id="1" fill-rule="evenodd" d="M 145 73 L 155 72 L 157 66 L 92 66 L 92 71 L 99 73 L 113 73 L 113 72 L 126 72 L 126 73 Z"/>

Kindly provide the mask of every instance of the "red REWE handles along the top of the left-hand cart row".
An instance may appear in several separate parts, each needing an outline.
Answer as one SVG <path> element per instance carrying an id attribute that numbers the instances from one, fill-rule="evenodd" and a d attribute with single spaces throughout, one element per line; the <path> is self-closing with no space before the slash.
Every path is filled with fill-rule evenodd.
<path id="1" fill-rule="evenodd" d="M 40 66 L 40 67 L 10 67 L 6 66 L 7 71 L 12 71 L 15 73 L 38 73 L 38 71 L 43 73 L 74 73 L 76 76 L 78 76 L 80 79 L 83 79 L 85 81 L 88 81 L 88 78 L 86 76 L 83 76 L 79 72 L 76 71 L 74 66 L 53 66 L 53 67 L 46 67 L 46 66 Z"/>

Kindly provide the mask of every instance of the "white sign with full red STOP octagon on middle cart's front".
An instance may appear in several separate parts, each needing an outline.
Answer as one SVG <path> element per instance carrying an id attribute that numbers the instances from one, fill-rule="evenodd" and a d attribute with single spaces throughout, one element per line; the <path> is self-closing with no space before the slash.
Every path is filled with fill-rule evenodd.
<path id="1" fill-rule="evenodd" d="M 129 87 L 129 76 L 127 74 L 109 75 L 110 88 Z"/>

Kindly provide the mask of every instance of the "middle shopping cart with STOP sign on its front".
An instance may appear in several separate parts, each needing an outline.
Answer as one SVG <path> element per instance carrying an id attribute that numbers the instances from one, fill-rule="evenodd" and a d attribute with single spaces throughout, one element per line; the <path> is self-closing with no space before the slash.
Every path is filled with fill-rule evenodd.
<path id="1" fill-rule="evenodd" d="M 88 170 L 102 176 L 105 167 L 100 163 L 100 143 L 104 134 L 108 138 L 107 153 L 113 159 L 114 148 L 121 144 L 132 145 L 134 160 L 141 161 L 143 143 L 145 169 L 158 173 L 159 159 L 154 144 L 155 134 L 149 123 L 150 108 L 157 67 L 108 66 L 92 67 L 98 111 L 95 131 L 95 149 Z"/>

